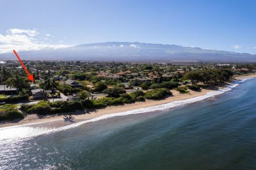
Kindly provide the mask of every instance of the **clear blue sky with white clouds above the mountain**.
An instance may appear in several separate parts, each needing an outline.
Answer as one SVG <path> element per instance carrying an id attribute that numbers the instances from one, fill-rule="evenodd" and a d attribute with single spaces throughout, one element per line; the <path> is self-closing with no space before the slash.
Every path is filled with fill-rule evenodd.
<path id="1" fill-rule="evenodd" d="M 0 53 L 125 41 L 256 54 L 255 0 L 1 0 L 0 4 Z"/>

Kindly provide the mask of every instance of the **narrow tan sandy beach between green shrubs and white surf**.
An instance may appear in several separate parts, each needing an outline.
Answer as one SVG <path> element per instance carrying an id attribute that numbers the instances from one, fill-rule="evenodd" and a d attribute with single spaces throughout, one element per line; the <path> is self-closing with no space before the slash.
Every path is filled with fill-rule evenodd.
<path id="1" fill-rule="evenodd" d="M 246 75 L 246 76 L 237 76 L 236 78 L 233 78 L 234 80 L 241 80 L 243 78 L 253 78 L 256 77 L 256 75 Z M 221 87 L 223 88 L 223 87 Z M 104 109 L 96 109 L 96 110 L 78 110 L 76 112 L 67 112 L 62 113 L 60 115 L 49 115 L 41 118 L 37 114 L 28 114 L 23 120 L 14 120 L 11 122 L 0 122 L 0 128 L 1 127 L 9 127 L 9 126 L 18 126 L 23 124 L 33 124 L 33 123 L 44 123 L 45 125 L 48 124 L 51 126 L 67 126 L 70 124 L 75 124 L 77 122 L 82 122 L 84 120 L 90 120 L 92 118 L 96 118 L 98 116 L 103 116 L 106 114 L 114 114 L 117 112 L 125 112 L 129 110 L 135 110 L 135 109 L 143 109 L 148 107 L 154 107 L 157 105 L 163 105 L 166 103 L 171 103 L 173 101 L 182 101 L 185 99 L 190 99 L 194 97 L 198 97 L 201 95 L 205 95 L 208 92 L 214 92 L 215 90 L 201 90 L 201 92 L 195 92 L 190 90 L 190 93 L 179 93 L 175 90 L 171 90 L 173 93 L 173 96 L 167 97 L 165 99 L 161 100 L 146 100 L 144 102 L 136 102 L 132 104 L 125 104 L 125 105 L 117 105 L 117 106 L 110 106 L 106 107 Z M 65 115 L 72 116 L 70 118 L 65 117 Z"/>

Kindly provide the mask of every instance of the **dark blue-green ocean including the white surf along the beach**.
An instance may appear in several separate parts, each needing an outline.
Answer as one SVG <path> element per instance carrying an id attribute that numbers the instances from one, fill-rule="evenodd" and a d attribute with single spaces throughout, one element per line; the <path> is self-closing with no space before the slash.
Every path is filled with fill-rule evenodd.
<path id="1" fill-rule="evenodd" d="M 256 169 L 255 84 L 65 127 L 2 127 L 0 169 Z"/>

